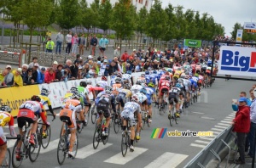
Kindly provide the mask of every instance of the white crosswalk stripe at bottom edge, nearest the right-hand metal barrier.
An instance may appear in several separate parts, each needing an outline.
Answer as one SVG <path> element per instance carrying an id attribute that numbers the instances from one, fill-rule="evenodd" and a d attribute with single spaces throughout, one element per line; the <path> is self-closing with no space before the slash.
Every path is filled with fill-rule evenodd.
<path id="1" fill-rule="evenodd" d="M 160 157 L 158 157 L 156 160 L 150 162 L 148 165 L 146 165 L 144 168 L 166 168 L 170 167 L 177 167 L 183 160 L 185 160 L 189 155 L 185 154 L 173 154 L 170 152 L 166 152 Z"/>

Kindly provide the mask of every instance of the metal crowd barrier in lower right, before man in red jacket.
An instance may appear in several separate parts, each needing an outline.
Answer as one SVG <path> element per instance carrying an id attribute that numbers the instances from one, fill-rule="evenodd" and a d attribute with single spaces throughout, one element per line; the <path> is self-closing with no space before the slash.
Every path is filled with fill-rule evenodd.
<path id="1" fill-rule="evenodd" d="M 212 162 L 212 160 L 217 160 L 219 167 L 220 163 L 227 158 L 225 167 L 228 166 L 230 160 L 231 144 L 232 140 L 236 138 L 236 134 L 232 132 L 233 126 L 229 126 L 223 132 L 221 132 L 217 137 L 215 137 L 211 143 L 207 145 L 206 148 L 202 149 L 201 152 L 189 161 L 185 168 L 205 168 Z M 228 153 L 228 154 L 227 154 Z"/>

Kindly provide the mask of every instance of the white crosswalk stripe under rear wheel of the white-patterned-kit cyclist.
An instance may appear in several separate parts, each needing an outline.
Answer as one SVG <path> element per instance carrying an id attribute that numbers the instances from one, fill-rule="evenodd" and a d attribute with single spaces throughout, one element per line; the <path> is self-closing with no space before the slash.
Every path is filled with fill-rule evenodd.
<path id="1" fill-rule="evenodd" d="M 129 149 L 128 149 L 129 150 Z M 125 157 L 123 157 L 122 153 L 113 155 L 111 158 L 108 158 L 108 160 L 104 160 L 104 162 L 112 163 L 112 164 L 118 164 L 118 165 L 125 165 L 127 162 L 135 159 L 138 155 L 143 154 L 146 152 L 148 148 L 134 148 L 134 152 L 127 152 Z"/>

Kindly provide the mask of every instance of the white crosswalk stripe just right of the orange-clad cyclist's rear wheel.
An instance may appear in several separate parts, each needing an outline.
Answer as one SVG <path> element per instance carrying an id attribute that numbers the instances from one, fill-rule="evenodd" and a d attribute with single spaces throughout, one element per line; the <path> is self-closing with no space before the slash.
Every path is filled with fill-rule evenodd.
<path id="1" fill-rule="evenodd" d="M 85 146 L 84 148 L 79 148 L 76 158 L 85 159 L 92 154 L 96 154 L 97 152 L 100 152 L 104 148 L 110 147 L 111 145 L 113 145 L 113 143 L 106 143 L 105 145 L 102 145 L 102 143 L 101 143 L 101 144 L 99 144 L 98 148 L 94 149 L 93 144 L 90 143 L 89 145 Z M 120 154 L 120 155 L 122 155 L 122 154 Z"/>

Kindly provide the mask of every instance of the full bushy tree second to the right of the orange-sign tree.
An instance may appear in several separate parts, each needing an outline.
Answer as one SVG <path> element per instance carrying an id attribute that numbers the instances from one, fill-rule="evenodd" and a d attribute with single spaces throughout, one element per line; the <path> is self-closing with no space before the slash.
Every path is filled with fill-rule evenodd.
<path id="1" fill-rule="evenodd" d="M 146 19 L 146 33 L 153 38 L 153 47 L 155 40 L 166 34 L 166 20 L 168 20 L 168 16 L 165 10 L 161 8 L 160 0 L 155 0 Z"/>

